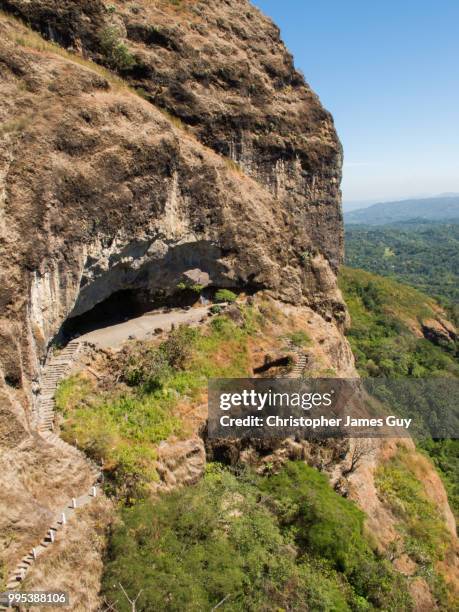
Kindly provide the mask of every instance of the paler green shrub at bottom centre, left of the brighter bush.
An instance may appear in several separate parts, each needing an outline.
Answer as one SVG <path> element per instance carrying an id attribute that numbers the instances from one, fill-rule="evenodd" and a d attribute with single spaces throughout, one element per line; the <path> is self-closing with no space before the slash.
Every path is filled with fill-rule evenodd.
<path id="1" fill-rule="evenodd" d="M 166 601 L 171 611 L 210 610 L 224 597 L 230 609 L 255 610 L 293 566 L 273 517 L 227 474 L 125 510 L 122 520 L 103 591 L 113 601 L 119 582 L 143 589 L 140 610 Z"/>

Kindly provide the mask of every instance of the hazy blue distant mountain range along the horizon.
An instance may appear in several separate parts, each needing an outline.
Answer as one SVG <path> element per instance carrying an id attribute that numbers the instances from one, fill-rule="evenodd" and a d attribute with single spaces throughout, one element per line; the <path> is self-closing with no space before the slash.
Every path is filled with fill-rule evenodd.
<path id="1" fill-rule="evenodd" d="M 344 213 L 346 224 L 387 225 L 405 221 L 459 221 L 459 195 L 380 202 Z"/>

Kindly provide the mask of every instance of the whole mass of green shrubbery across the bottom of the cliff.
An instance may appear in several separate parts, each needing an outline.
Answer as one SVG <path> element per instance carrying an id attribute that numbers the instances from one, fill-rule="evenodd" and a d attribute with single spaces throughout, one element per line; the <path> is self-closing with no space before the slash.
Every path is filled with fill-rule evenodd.
<path id="1" fill-rule="evenodd" d="M 363 513 L 304 463 L 266 478 L 208 466 L 194 487 L 123 510 L 103 592 L 128 610 L 409 610 L 405 579 L 373 551 Z M 124 606 L 124 607 L 123 607 Z"/>

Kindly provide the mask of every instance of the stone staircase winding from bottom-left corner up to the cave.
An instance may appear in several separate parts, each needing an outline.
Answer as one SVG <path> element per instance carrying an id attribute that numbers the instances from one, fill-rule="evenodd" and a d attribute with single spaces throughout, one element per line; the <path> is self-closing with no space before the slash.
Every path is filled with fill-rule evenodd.
<path id="1" fill-rule="evenodd" d="M 64 442 L 59 436 L 53 433 L 54 430 L 54 409 L 56 393 L 59 382 L 69 373 L 71 366 L 75 362 L 78 353 L 84 348 L 84 343 L 78 340 L 72 340 L 67 346 L 57 355 L 53 355 L 45 364 L 41 379 L 40 395 L 37 402 L 36 412 L 36 427 L 39 435 L 48 443 L 65 450 L 67 454 L 73 455 L 79 460 L 84 459 L 90 463 L 91 470 L 94 475 L 94 485 L 90 490 L 79 497 L 71 499 L 63 508 L 60 508 L 49 526 L 46 535 L 42 540 L 33 547 L 16 565 L 14 570 L 8 577 L 7 590 L 15 590 L 24 580 L 28 570 L 36 562 L 38 557 L 43 554 L 47 548 L 55 541 L 56 534 L 59 530 L 65 528 L 67 521 L 72 517 L 77 508 L 85 506 L 92 501 L 100 491 L 98 484 L 102 478 L 100 468 L 77 448 Z M 0 606 L 0 610 L 6 608 Z"/>

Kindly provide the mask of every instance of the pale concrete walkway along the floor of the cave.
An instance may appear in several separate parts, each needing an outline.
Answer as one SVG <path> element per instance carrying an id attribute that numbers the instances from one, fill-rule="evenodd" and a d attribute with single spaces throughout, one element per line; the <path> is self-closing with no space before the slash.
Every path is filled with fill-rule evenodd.
<path id="1" fill-rule="evenodd" d="M 81 335 L 80 342 L 95 344 L 99 348 L 120 348 L 127 340 L 145 340 L 155 333 L 155 329 L 170 331 L 173 325 L 197 325 L 207 317 L 209 306 L 199 306 L 189 310 L 177 309 L 171 312 L 149 312 L 141 317 L 129 319 L 117 325 L 110 325 Z"/>

